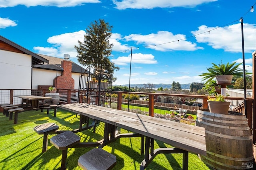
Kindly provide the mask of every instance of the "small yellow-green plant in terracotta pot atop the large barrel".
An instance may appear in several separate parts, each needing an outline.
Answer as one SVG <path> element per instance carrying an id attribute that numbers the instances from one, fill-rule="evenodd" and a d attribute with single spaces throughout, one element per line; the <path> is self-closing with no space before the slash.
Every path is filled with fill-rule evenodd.
<path id="1" fill-rule="evenodd" d="M 207 100 L 210 112 L 228 114 L 230 102 L 226 102 L 221 94 L 215 94 L 214 96 L 215 98 L 209 97 Z"/>

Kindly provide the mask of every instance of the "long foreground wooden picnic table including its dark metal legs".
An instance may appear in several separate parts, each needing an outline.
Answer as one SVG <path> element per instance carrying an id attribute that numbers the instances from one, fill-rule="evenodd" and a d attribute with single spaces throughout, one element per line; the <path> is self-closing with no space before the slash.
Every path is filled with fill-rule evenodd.
<path id="1" fill-rule="evenodd" d="M 113 131 L 115 131 L 115 127 L 144 135 L 146 137 L 145 158 L 140 165 L 140 169 L 148 166 L 159 153 L 183 153 L 184 170 L 188 169 L 188 152 L 206 155 L 203 127 L 91 104 L 66 104 L 58 107 L 104 122 L 102 147 L 110 143 L 110 139 L 114 139 L 115 133 Z M 154 139 L 170 144 L 174 148 L 154 150 Z"/>

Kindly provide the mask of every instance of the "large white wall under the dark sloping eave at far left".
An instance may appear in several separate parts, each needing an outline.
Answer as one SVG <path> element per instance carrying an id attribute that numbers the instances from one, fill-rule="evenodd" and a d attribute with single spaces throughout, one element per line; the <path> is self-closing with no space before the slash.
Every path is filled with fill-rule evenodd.
<path id="1" fill-rule="evenodd" d="M 31 55 L 0 50 L 0 89 L 31 88 L 31 62 Z"/>

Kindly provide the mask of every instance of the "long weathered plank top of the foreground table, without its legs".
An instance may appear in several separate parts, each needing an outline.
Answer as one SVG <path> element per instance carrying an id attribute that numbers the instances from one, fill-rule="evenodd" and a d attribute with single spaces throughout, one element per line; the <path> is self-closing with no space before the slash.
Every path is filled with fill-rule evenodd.
<path id="1" fill-rule="evenodd" d="M 188 152 L 206 155 L 203 127 L 91 104 L 65 104 L 58 107 L 151 137 Z"/>

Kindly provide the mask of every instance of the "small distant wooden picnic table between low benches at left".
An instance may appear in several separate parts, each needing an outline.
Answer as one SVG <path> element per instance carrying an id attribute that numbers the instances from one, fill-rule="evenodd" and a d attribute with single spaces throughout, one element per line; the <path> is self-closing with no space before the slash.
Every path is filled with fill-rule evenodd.
<path id="1" fill-rule="evenodd" d="M 44 97 L 44 96 L 33 96 L 33 95 L 26 95 L 26 96 L 13 96 L 16 98 L 21 98 L 21 106 L 23 106 L 23 103 L 26 102 L 26 109 L 33 109 L 39 108 L 39 101 L 44 99 L 51 99 L 51 97 Z M 30 105 L 30 107 L 29 107 Z"/>

